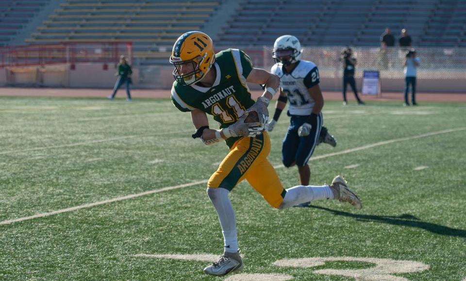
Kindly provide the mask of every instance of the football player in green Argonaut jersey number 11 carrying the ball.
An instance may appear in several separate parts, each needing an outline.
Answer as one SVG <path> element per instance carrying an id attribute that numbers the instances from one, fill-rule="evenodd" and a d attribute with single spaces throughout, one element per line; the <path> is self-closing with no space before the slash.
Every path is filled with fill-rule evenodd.
<path id="1" fill-rule="evenodd" d="M 264 131 L 268 103 L 280 85 L 277 75 L 254 68 L 241 50 L 228 49 L 215 54 L 212 39 L 198 31 L 184 33 L 177 39 L 170 63 L 175 66 L 176 80 L 171 99 L 180 111 L 191 113 L 196 128 L 193 138 L 200 138 L 206 145 L 225 140 L 230 148 L 207 183 L 207 195 L 220 221 L 225 250 L 216 263 L 204 268 L 205 273 L 222 276 L 243 268 L 228 194 L 245 179 L 277 209 L 327 198 L 350 202 L 357 209 L 362 207 L 358 195 L 348 189 L 340 176 L 330 186 L 283 188 L 267 160 L 270 138 Z M 255 102 L 247 83 L 265 85 L 263 95 Z M 220 130 L 209 128 L 207 114 L 214 116 Z"/>

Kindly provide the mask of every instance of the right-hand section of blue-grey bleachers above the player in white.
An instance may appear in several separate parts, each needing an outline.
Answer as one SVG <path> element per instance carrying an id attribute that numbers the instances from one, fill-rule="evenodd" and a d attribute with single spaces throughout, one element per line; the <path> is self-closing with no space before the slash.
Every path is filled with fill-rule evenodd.
<path id="1" fill-rule="evenodd" d="M 269 46 L 278 36 L 290 33 L 305 46 L 379 46 L 380 35 L 385 27 L 390 27 L 395 36 L 406 28 L 416 45 L 427 46 L 431 45 L 429 41 L 420 39 L 426 33 L 426 24 L 435 22 L 432 14 L 442 9 L 443 2 L 285 0 L 270 4 L 265 0 L 247 0 L 220 38 L 226 45 L 237 45 L 238 40 L 246 39 L 249 46 Z M 452 17 L 458 17 L 457 27 L 464 29 L 464 14 L 456 10 Z M 447 42 L 444 44 L 454 43 Z"/>

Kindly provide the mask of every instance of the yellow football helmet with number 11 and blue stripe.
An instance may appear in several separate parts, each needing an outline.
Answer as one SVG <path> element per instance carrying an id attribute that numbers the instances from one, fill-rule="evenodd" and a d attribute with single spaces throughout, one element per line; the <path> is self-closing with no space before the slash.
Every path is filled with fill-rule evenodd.
<path id="1" fill-rule="evenodd" d="M 181 85 L 190 85 L 201 80 L 214 62 L 212 39 L 200 31 L 190 31 L 181 35 L 173 45 L 170 56 L 170 63 L 175 65 L 173 77 Z M 189 69 L 188 73 L 183 73 L 183 66 Z"/>

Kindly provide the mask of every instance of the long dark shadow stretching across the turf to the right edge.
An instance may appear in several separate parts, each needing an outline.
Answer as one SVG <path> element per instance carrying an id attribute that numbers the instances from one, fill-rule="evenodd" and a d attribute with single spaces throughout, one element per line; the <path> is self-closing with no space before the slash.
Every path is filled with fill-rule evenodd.
<path id="1" fill-rule="evenodd" d="M 466 230 L 450 228 L 448 226 L 443 226 L 443 225 L 434 224 L 430 222 L 424 222 L 424 221 L 421 221 L 416 216 L 409 215 L 409 214 L 403 214 L 399 216 L 359 215 L 359 214 L 351 214 L 348 212 L 336 211 L 336 210 L 332 210 L 329 208 L 313 206 L 313 205 L 301 206 L 301 207 L 324 210 L 324 211 L 331 212 L 334 215 L 344 215 L 344 216 L 355 218 L 360 221 L 375 221 L 375 222 L 382 222 L 382 223 L 388 223 L 388 224 L 393 224 L 393 225 L 417 227 L 417 228 L 421 228 L 421 229 L 431 231 L 437 234 L 456 236 L 456 237 L 466 237 Z"/>

